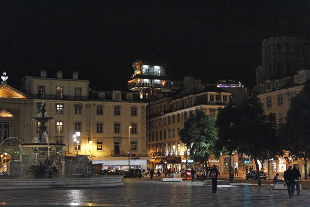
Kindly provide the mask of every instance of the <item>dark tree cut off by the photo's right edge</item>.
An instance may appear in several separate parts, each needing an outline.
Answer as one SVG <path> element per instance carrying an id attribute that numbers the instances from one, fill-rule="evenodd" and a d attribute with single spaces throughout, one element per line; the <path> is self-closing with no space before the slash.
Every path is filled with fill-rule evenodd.
<path id="1" fill-rule="evenodd" d="M 307 161 L 310 160 L 310 80 L 307 80 L 301 93 L 291 99 L 286 113 L 286 122 L 280 127 L 279 136 L 283 139 L 288 156 L 304 159 L 305 179 L 308 179 Z"/>

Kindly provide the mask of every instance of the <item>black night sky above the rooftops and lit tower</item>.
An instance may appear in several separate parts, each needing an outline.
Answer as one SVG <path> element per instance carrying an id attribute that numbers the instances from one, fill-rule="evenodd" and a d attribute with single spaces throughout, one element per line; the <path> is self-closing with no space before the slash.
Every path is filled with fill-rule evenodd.
<path id="1" fill-rule="evenodd" d="M 19 88 L 42 69 L 90 80 L 93 90 L 127 88 L 137 59 L 190 75 L 255 85 L 262 40 L 309 36 L 309 0 L 0 0 L 0 73 Z"/>

